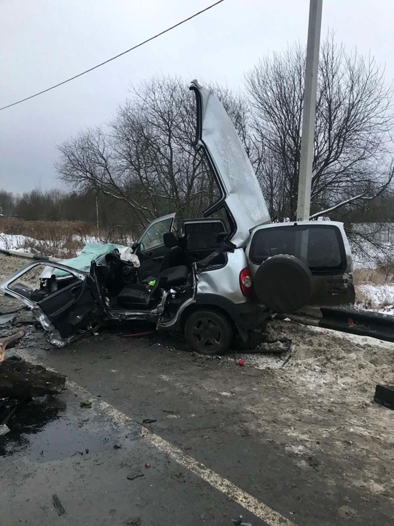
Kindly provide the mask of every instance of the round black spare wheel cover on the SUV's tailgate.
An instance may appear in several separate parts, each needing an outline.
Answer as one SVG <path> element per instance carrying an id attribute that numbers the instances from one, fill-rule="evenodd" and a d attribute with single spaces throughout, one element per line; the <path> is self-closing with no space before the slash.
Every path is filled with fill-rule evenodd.
<path id="1" fill-rule="evenodd" d="M 312 273 L 294 256 L 281 254 L 266 259 L 258 267 L 254 290 L 258 301 L 275 312 L 295 312 L 312 295 Z"/>

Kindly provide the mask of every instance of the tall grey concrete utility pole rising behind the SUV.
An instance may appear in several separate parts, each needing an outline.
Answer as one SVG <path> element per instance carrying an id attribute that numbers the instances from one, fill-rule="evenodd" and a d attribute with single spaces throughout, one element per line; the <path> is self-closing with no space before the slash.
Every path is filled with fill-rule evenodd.
<path id="1" fill-rule="evenodd" d="M 322 7 L 323 0 L 310 0 L 305 65 L 303 128 L 299 161 L 297 221 L 307 221 L 309 219 Z"/>

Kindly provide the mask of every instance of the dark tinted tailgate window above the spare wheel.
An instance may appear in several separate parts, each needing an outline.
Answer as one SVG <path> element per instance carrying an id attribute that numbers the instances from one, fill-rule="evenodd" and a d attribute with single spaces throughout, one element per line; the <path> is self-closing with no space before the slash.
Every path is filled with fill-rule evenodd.
<path id="1" fill-rule="evenodd" d="M 341 232 L 334 225 L 289 225 L 257 230 L 251 242 L 250 260 L 260 265 L 278 254 L 296 256 L 315 272 L 343 271 L 347 266 Z"/>

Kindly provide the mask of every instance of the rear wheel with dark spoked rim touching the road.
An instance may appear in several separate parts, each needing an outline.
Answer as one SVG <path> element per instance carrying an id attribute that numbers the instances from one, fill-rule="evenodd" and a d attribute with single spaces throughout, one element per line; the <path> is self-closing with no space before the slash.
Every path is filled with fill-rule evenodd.
<path id="1" fill-rule="evenodd" d="M 186 343 L 202 355 L 222 355 L 230 347 L 234 330 L 227 316 L 213 309 L 192 312 L 184 326 Z"/>

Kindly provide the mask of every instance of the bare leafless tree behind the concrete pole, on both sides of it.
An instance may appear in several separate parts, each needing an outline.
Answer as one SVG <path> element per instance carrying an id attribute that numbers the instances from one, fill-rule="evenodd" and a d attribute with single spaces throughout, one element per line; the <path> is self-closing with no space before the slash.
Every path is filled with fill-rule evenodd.
<path id="1" fill-rule="evenodd" d="M 246 75 L 257 173 L 272 216 L 296 217 L 305 52 L 265 57 Z M 392 177 L 391 87 L 373 58 L 322 44 L 317 87 L 311 208 L 349 210 Z M 339 206 L 340 205 L 340 206 Z"/>

